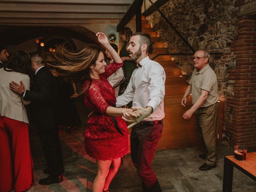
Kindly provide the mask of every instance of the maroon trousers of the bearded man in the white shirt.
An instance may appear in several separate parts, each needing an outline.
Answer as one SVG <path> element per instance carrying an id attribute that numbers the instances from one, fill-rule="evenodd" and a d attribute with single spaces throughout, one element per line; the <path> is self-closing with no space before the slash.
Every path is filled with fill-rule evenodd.
<path id="1" fill-rule="evenodd" d="M 151 162 L 162 136 L 163 123 L 153 126 L 134 126 L 131 132 L 131 158 L 142 180 L 144 192 L 162 192 Z"/>

